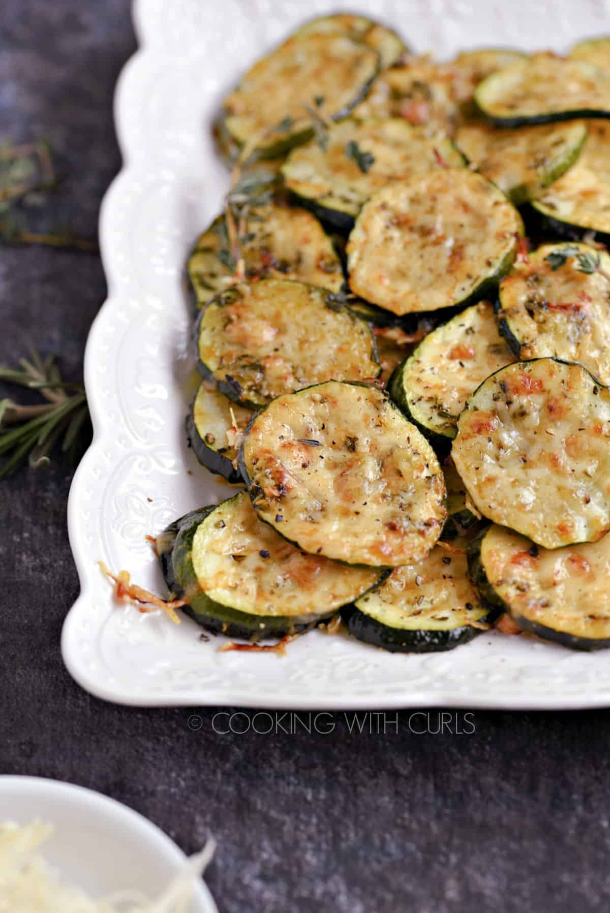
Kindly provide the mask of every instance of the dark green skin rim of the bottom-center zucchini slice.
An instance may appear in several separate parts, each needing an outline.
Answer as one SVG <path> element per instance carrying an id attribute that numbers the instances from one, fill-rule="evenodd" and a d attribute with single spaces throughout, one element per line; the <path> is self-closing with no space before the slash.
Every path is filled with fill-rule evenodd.
<path id="1" fill-rule="evenodd" d="M 351 635 L 390 653 L 442 653 L 468 644 L 481 633 L 470 625 L 451 631 L 405 631 L 381 624 L 355 605 L 342 609 L 341 616 Z"/>

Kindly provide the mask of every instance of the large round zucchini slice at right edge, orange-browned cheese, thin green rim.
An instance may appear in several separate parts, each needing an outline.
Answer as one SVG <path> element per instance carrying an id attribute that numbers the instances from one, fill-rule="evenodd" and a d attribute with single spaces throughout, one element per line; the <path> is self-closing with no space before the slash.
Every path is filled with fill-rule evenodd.
<path id="1" fill-rule="evenodd" d="M 484 517 L 546 549 L 610 529 L 610 391 L 580 364 L 492 374 L 459 416 L 451 456 Z"/>

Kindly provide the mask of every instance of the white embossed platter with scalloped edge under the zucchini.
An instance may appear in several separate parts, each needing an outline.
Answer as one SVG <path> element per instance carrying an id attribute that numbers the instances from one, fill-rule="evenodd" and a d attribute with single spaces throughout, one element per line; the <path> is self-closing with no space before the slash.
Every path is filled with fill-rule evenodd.
<path id="1" fill-rule="evenodd" d="M 218 653 L 189 620 L 113 603 L 97 562 L 163 592 L 144 540 L 228 489 L 187 451 L 188 320 L 184 259 L 218 210 L 227 175 L 209 135 L 223 92 L 300 21 L 362 10 L 417 50 L 564 50 L 610 32 L 610 3 L 536 0 L 140 0 L 141 48 L 124 68 L 115 117 L 124 167 L 100 216 L 109 299 L 89 335 L 85 383 L 95 428 L 68 504 L 82 592 L 62 652 L 91 693 L 124 704 L 275 708 L 585 708 L 610 704 L 602 651 L 572 653 L 528 637 L 481 635 L 439 655 L 393 656 L 318 632 L 288 656 Z"/>

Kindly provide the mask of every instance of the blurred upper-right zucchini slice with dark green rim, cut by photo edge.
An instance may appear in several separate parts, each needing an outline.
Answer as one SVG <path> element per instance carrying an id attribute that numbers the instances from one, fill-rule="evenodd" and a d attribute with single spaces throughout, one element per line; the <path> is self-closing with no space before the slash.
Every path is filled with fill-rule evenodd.
<path id="1" fill-rule="evenodd" d="M 610 74 L 582 60 L 533 54 L 484 79 L 475 101 L 500 127 L 610 117 Z"/>

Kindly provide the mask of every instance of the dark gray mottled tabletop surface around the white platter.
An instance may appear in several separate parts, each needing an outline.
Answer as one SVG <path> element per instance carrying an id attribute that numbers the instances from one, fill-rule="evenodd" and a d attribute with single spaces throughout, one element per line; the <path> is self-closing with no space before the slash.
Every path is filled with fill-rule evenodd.
<path id="1" fill-rule="evenodd" d="M 0 136 L 55 143 L 67 180 L 40 218 L 94 234 L 119 167 L 128 4 L 5 0 L 0 36 Z M 0 362 L 35 341 L 78 376 L 104 293 L 98 257 L 1 248 Z M 105 792 L 186 851 L 214 833 L 223 913 L 607 910 L 610 713 L 476 713 L 470 735 L 416 735 L 408 713 L 398 733 L 390 715 L 385 735 L 350 734 L 338 714 L 328 734 L 264 736 L 216 734 L 214 711 L 193 731 L 195 711 L 104 704 L 59 656 L 79 589 L 68 485 L 61 465 L 0 482 L 0 772 Z"/>

